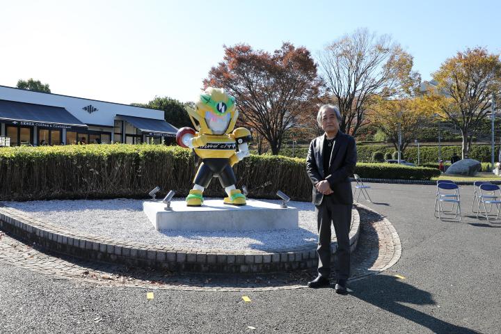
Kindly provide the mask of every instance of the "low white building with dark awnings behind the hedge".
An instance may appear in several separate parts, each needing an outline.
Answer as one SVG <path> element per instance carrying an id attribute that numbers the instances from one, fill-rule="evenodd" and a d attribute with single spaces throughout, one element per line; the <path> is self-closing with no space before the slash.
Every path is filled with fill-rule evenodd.
<path id="1" fill-rule="evenodd" d="M 0 86 L 0 138 L 10 145 L 175 143 L 164 111 Z"/>

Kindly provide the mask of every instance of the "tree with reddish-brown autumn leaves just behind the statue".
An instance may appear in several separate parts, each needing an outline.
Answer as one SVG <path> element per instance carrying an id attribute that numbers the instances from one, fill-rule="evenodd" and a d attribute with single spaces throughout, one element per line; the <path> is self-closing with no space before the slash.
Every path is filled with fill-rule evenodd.
<path id="1" fill-rule="evenodd" d="M 278 154 L 284 132 L 304 116 L 315 118 L 318 109 L 321 81 L 310 51 L 288 42 L 273 54 L 245 44 L 224 48 L 223 61 L 209 71 L 205 87 L 225 88 L 237 97 L 243 125 Z"/>

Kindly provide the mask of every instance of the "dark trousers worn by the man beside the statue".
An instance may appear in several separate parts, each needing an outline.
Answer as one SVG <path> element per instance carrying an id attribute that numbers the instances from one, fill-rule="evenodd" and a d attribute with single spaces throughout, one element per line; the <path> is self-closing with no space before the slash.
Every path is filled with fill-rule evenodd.
<path id="1" fill-rule="evenodd" d="M 335 204 L 331 196 L 324 196 L 321 205 L 315 205 L 319 242 L 319 275 L 328 277 L 331 273 L 331 223 L 337 238 L 337 250 L 334 253 L 336 279 L 346 280 L 350 274 L 349 229 L 352 205 Z"/>

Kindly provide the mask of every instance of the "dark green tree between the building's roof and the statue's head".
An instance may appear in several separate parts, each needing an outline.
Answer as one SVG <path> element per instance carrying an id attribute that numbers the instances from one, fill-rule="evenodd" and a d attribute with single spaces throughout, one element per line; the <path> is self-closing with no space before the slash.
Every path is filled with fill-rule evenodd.
<path id="1" fill-rule="evenodd" d="M 154 97 L 150 102 L 143 103 L 133 103 L 133 106 L 144 106 L 145 108 L 157 109 L 164 111 L 164 118 L 166 122 L 174 125 L 177 128 L 180 127 L 193 127 L 191 120 L 188 116 L 188 111 L 186 108 L 190 108 L 190 102 L 183 104 L 182 102 L 172 99 L 170 97 Z"/>

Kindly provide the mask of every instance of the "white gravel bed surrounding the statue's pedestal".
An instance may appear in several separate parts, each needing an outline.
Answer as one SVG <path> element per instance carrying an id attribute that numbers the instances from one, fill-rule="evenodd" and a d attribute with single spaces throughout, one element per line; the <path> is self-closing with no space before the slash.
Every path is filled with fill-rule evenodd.
<path id="1" fill-rule="evenodd" d="M 264 201 L 280 203 L 279 200 Z M 173 248 L 280 250 L 317 244 L 315 206 L 310 202 L 289 202 L 290 206 L 299 209 L 299 228 L 242 232 L 157 231 L 143 213 L 143 200 L 47 200 L 4 204 L 70 230 Z"/>

